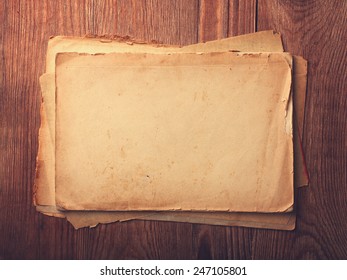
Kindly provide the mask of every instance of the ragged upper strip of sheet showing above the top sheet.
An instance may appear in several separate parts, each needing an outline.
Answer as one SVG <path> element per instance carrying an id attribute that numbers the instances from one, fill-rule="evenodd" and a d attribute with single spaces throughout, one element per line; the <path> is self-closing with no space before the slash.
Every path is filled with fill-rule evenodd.
<path id="1" fill-rule="evenodd" d="M 55 56 L 61 52 L 78 53 L 167 53 L 167 52 L 283 52 L 281 35 L 271 30 L 198 43 L 183 47 L 149 45 L 130 39 L 76 38 L 57 36 L 49 40 L 46 58 L 46 73 L 54 73 Z"/>

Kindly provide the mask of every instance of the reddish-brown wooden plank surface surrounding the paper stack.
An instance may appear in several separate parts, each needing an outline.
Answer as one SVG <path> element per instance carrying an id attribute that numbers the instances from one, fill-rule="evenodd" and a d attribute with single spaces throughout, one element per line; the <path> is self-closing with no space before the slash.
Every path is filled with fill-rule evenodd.
<path id="1" fill-rule="evenodd" d="M 0 3 L 0 259 L 347 258 L 346 1 L 13 0 Z M 185 45 L 275 29 L 309 61 L 293 232 L 131 221 L 74 230 L 32 206 L 38 78 L 52 35 L 121 35 Z"/>

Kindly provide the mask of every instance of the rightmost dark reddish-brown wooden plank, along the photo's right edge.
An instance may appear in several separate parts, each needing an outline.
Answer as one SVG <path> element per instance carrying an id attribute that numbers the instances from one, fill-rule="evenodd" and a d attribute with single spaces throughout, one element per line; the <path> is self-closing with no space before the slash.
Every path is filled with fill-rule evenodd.
<path id="1" fill-rule="evenodd" d="M 257 258 L 347 257 L 346 18 L 346 1 L 259 1 L 259 30 L 281 32 L 285 49 L 308 60 L 304 150 L 311 186 L 298 191 L 295 238 L 263 233 L 258 243 L 269 246 L 257 246 Z"/>

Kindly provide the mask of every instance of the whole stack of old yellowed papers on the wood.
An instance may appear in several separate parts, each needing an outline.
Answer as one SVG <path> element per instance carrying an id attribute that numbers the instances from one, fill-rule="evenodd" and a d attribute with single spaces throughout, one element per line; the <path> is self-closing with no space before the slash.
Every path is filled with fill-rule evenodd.
<path id="1" fill-rule="evenodd" d="M 143 219 L 293 229 L 294 187 L 308 183 L 306 68 L 272 31 L 184 47 L 50 39 L 37 210 L 75 228 Z"/>

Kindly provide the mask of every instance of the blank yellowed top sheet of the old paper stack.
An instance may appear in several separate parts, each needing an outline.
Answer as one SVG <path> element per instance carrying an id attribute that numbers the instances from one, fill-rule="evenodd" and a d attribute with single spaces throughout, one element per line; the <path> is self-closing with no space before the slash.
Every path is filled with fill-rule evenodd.
<path id="1" fill-rule="evenodd" d="M 287 57 L 58 54 L 57 205 L 288 210 L 293 142 Z"/>

